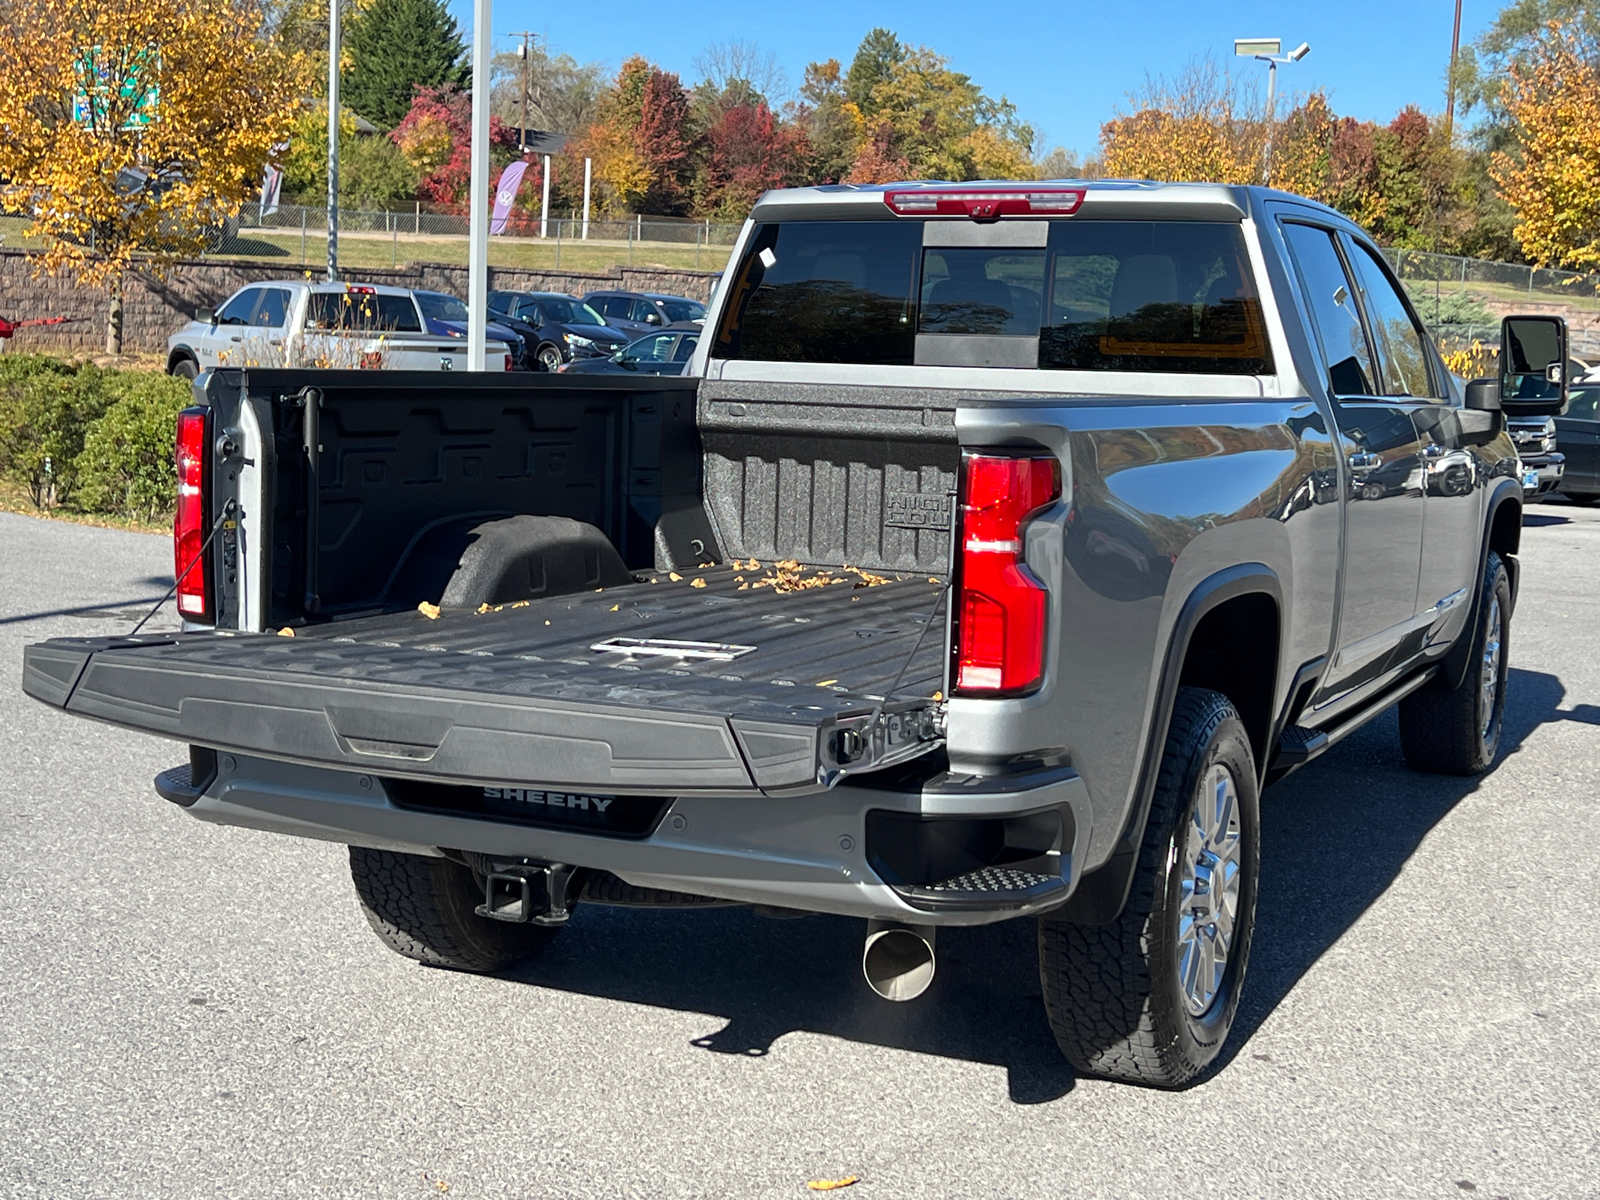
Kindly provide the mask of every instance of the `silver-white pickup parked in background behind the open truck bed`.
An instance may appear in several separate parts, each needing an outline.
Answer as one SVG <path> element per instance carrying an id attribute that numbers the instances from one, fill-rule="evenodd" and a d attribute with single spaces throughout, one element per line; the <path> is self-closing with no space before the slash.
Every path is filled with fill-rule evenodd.
<path id="1" fill-rule="evenodd" d="M 235 291 L 216 312 L 166 339 L 166 373 L 194 379 L 216 366 L 466 370 L 462 338 L 424 333 L 405 288 L 270 280 Z M 488 370 L 512 368 L 510 347 L 488 342 Z"/>

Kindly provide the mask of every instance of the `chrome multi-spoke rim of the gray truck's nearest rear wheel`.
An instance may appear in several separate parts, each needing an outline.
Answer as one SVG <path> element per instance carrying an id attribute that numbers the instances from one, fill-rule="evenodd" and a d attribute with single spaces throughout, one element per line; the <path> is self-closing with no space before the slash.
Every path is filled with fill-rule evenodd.
<path id="1" fill-rule="evenodd" d="M 1195 789 L 1186 829 L 1178 978 L 1190 1016 L 1205 1016 L 1222 987 L 1238 920 L 1238 789 L 1221 763 Z"/>

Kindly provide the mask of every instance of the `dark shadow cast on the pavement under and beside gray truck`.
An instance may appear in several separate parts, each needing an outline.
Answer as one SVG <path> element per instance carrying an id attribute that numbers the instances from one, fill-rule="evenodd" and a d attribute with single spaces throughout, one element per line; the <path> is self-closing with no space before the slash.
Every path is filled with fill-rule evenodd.
<path id="1" fill-rule="evenodd" d="M 1562 712 L 1563 696 L 1554 675 L 1512 670 L 1502 757 L 1550 720 L 1600 725 L 1592 706 Z M 1254 949 L 1222 1066 L 1477 784 L 1406 770 L 1389 714 L 1262 797 Z M 1350 837 L 1352 829 L 1360 837 Z M 862 936 L 862 922 L 843 917 L 589 906 L 544 957 L 506 978 L 712 1014 L 722 1027 L 693 1045 L 718 1054 L 762 1058 L 786 1034 L 811 1032 L 1005 1067 L 1018 1104 L 1072 1090 L 1072 1069 L 1040 1003 L 1032 920 L 941 930 L 933 987 L 906 1005 L 867 989 Z"/>

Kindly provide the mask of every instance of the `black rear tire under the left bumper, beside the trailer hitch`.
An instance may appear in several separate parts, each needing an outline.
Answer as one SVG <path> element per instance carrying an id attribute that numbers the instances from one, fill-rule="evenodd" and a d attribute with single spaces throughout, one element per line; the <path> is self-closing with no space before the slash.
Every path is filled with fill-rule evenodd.
<path id="1" fill-rule="evenodd" d="M 384 944 L 429 966 L 498 971 L 538 954 L 560 931 L 478 917 L 483 885 L 448 858 L 350 846 L 350 878 Z"/>

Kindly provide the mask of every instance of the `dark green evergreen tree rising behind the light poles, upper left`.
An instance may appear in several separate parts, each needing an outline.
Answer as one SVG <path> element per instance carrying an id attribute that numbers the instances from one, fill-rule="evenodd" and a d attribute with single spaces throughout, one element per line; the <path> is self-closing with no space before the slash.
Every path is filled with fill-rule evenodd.
<path id="1" fill-rule="evenodd" d="M 346 48 L 344 102 L 386 130 L 410 112 L 416 88 L 467 83 L 461 32 L 443 0 L 374 0 Z"/>

